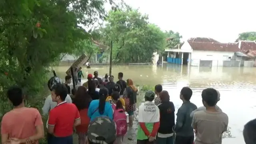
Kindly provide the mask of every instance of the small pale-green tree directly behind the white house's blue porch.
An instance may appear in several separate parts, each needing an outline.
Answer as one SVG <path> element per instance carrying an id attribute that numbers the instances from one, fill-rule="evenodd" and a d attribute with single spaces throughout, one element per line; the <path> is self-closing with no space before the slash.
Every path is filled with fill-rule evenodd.
<path id="1" fill-rule="evenodd" d="M 182 36 L 178 32 L 173 32 L 169 30 L 165 32 L 166 34 L 166 41 L 167 41 L 167 48 L 178 48 L 179 44 L 181 44 L 180 39 Z"/>

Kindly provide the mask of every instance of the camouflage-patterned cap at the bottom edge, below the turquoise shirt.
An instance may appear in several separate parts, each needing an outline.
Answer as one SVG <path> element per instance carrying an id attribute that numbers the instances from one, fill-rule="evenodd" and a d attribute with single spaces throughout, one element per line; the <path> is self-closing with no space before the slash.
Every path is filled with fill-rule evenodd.
<path id="1" fill-rule="evenodd" d="M 88 126 L 88 139 L 98 144 L 109 144 L 116 140 L 116 124 L 107 116 L 96 117 Z"/>

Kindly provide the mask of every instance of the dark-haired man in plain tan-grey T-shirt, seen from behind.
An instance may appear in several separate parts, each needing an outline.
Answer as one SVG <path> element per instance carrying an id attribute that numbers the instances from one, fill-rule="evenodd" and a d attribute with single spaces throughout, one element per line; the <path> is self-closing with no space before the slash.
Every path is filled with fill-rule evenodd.
<path id="1" fill-rule="evenodd" d="M 216 110 L 218 92 L 213 88 L 202 91 L 202 102 L 206 110 L 195 112 L 192 127 L 195 129 L 194 144 L 221 144 L 222 134 L 228 128 L 228 116 Z"/>

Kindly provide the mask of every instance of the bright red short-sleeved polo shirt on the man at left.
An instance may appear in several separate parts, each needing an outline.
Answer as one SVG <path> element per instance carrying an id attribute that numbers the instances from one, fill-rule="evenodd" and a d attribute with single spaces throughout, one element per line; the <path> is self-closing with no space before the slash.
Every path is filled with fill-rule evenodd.
<path id="1" fill-rule="evenodd" d="M 48 125 L 54 126 L 54 136 L 66 137 L 73 134 L 74 120 L 80 119 L 74 104 L 61 102 L 49 113 Z"/>

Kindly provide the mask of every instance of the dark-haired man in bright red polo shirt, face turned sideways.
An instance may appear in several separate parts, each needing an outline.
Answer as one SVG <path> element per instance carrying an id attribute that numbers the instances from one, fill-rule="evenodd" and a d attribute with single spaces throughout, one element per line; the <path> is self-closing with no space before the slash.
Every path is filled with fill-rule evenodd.
<path id="1" fill-rule="evenodd" d="M 63 84 L 52 87 L 52 101 L 58 105 L 49 113 L 48 133 L 52 138 L 48 144 L 73 144 L 73 128 L 81 124 L 76 106 L 65 101 L 67 94 Z"/>

